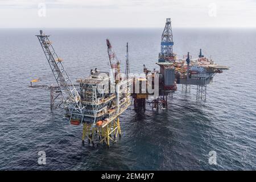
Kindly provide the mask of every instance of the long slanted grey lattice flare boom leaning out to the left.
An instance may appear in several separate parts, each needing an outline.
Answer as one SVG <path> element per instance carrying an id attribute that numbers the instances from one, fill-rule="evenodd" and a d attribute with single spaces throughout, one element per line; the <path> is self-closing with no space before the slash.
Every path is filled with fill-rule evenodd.
<path id="1" fill-rule="evenodd" d="M 52 46 L 52 42 L 49 40 L 49 35 L 44 35 L 43 31 L 40 30 L 40 35 L 36 36 L 38 37 L 44 54 L 46 55 L 46 59 L 52 69 L 52 73 L 60 88 L 64 104 L 68 106 L 70 113 L 82 114 L 80 95 L 61 63 L 63 60 L 57 56 L 57 53 Z"/>

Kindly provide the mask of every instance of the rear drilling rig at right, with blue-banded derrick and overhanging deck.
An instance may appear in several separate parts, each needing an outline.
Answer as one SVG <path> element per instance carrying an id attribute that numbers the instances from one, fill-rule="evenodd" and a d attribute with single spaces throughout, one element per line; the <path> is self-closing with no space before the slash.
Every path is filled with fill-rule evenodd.
<path id="1" fill-rule="evenodd" d="M 152 93 L 133 93 L 134 108 L 142 112 L 145 110 L 145 105 L 149 103 L 152 109 L 158 110 L 167 109 L 167 96 L 173 98 L 174 92 L 177 90 L 177 84 L 181 84 L 182 91 L 190 92 L 191 85 L 197 86 L 196 99 L 206 100 L 207 85 L 213 80 L 217 73 L 222 73 L 223 70 L 229 69 L 226 66 L 214 64 L 212 59 L 208 59 L 202 55 L 201 49 L 197 59 L 193 59 L 189 55 L 183 56 L 183 59 L 177 59 L 177 55 L 173 52 L 171 19 L 166 19 L 166 26 L 162 34 L 161 51 L 158 56 L 160 71 L 150 71 L 143 65 L 143 72 L 147 76 L 151 73 L 151 77 L 158 75 L 159 89 L 158 97 L 150 99 Z M 137 81 L 144 81 L 146 85 L 154 85 L 154 81 L 147 78 L 138 78 Z M 156 90 L 155 90 L 156 91 Z"/>

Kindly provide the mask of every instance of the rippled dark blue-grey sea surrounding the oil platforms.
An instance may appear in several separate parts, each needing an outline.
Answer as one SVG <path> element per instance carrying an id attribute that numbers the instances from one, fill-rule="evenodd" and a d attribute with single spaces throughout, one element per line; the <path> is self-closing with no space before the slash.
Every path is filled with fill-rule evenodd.
<path id="1" fill-rule="evenodd" d="M 45 29 L 75 82 L 90 69 L 109 71 L 106 38 L 125 71 L 142 73 L 158 65 L 163 28 Z M 212 57 L 228 71 L 207 86 L 207 101 L 196 101 L 196 86 L 168 101 L 168 110 L 133 105 L 121 115 L 122 137 L 110 148 L 81 143 L 82 126 L 71 126 L 61 108 L 50 110 L 48 90 L 55 84 L 40 47 L 39 29 L 0 29 L 0 169 L 17 170 L 255 170 L 256 30 L 173 28 L 174 52 Z M 38 152 L 46 152 L 46 165 Z M 209 152 L 217 164 L 210 164 Z"/>

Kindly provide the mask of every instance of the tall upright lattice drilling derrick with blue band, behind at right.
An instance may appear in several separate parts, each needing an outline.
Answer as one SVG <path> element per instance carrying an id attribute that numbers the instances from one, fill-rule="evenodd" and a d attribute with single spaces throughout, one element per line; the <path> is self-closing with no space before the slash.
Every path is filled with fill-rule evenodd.
<path id="1" fill-rule="evenodd" d="M 159 62 L 173 62 L 175 61 L 175 54 L 172 52 L 174 42 L 172 40 L 171 18 L 166 19 L 166 26 L 162 34 L 161 52 L 159 53 Z"/>

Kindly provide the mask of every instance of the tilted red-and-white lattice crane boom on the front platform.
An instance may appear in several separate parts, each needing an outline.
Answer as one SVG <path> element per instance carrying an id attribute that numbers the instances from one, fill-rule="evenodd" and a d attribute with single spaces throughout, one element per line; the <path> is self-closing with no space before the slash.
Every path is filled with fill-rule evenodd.
<path id="1" fill-rule="evenodd" d="M 109 39 L 106 39 L 106 43 L 108 46 L 108 55 L 109 55 L 109 62 L 112 69 L 112 74 L 115 78 L 115 83 L 119 82 L 118 74 L 120 73 L 120 62 L 117 59 L 117 56 L 115 56 L 114 50 L 110 44 Z"/>

